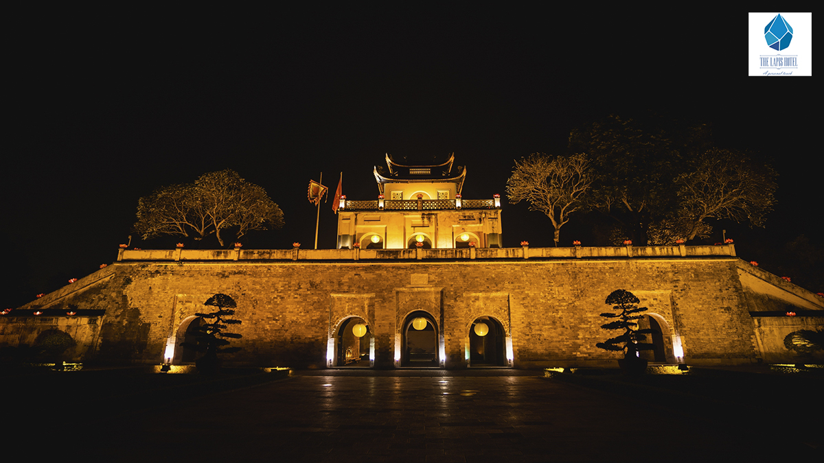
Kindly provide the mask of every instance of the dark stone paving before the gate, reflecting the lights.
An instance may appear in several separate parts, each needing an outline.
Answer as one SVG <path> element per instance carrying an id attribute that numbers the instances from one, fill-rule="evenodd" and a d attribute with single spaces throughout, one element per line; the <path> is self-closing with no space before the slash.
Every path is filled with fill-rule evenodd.
<path id="1" fill-rule="evenodd" d="M 691 416 L 672 404 L 630 404 L 619 395 L 541 374 L 299 373 L 96 423 L 91 438 L 101 445 L 87 456 L 89 461 L 313 462 L 808 457 L 809 449 L 786 441 L 780 431 L 765 432 L 765 426 Z"/>

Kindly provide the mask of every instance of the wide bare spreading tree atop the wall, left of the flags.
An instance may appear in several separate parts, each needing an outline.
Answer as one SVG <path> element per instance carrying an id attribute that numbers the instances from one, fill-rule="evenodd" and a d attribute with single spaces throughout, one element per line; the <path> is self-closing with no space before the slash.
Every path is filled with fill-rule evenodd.
<path id="1" fill-rule="evenodd" d="M 149 239 L 161 235 L 215 234 L 225 246 L 222 231 L 236 227 L 236 237 L 251 230 L 283 227 L 283 211 L 266 190 L 242 179 L 236 171 L 208 172 L 193 184 L 156 189 L 138 200 L 134 229 Z"/>

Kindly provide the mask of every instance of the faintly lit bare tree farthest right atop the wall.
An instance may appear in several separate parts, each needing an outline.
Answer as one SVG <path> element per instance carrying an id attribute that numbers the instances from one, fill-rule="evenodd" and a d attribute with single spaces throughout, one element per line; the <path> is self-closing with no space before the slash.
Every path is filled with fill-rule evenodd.
<path id="1" fill-rule="evenodd" d="M 705 230 L 707 218 L 763 227 L 775 204 L 776 176 L 771 166 L 742 152 L 711 148 L 700 155 L 689 172 L 675 178 L 684 238 Z"/>

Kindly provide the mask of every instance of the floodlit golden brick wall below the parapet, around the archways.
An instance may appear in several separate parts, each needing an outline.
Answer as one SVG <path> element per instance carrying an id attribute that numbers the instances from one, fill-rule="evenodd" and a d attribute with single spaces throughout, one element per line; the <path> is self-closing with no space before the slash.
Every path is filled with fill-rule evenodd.
<path id="1" fill-rule="evenodd" d="M 89 328 L 70 333 L 82 338 L 76 338 L 78 344 L 87 346 L 88 352 L 78 353 L 78 357 L 101 362 L 162 362 L 168 340 L 180 337 L 180 324 L 195 312 L 206 310 L 203 302 L 222 292 L 234 298 L 236 318 L 242 320 L 241 325 L 232 327 L 243 336 L 232 344 L 242 350 L 228 357 L 239 364 L 325 367 L 330 335 L 334 336 L 344 319 L 358 316 L 367 321 L 375 336 L 376 367 L 397 366 L 400 326 L 411 311 L 422 310 L 438 323 L 445 354 L 442 364 L 448 368 L 466 366 L 468 333 L 479 316 L 501 323 L 512 345 L 515 367 L 614 366 L 618 354 L 595 344 L 610 337 L 600 328 L 606 320 L 599 314 L 610 309 L 604 300 L 622 288 L 634 292 L 642 305 L 665 321 L 667 326 L 662 328 L 669 331 L 669 339 L 683 347 L 683 362 L 759 362 L 765 357 L 764 349 L 769 350 L 770 362 L 786 358 L 786 352 L 772 339 L 780 334 L 770 334 L 769 341 L 758 338 L 763 333 L 757 334 L 756 328 L 763 331 L 763 324 L 756 327 L 750 312 L 760 303 L 753 296 L 759 292 L 752 289 L 757 285 L 751 282 L 742 286 L 742 280 L 748 282 L 754 271 L 761 270 L 748 267 L 733 257 L 680 256 L 331 262 L 122 260 L 16 311 L 37 307 L 105 310 L 105 316 L 95 318 L 99 329 L 75 318 L 71 323 L 85 323 Z M 808 304 L 805 310 L 824 310 L 816 296 L 787 284 L 793 288 L 785 292 L 803 295 Z M 13 333 L 20 333 L 19 327 L 32 320 L 23 318 L 2 319 L 0 343 L 21 342 L 23 337 Z M 821 321 L 812 317 L 804 326 L 821 329 Z M 40 325 L 55 323 L 62 322 Z M 24 337 L 36 336 L 36 331 L 29 330 Z M 669 355 L 674 355 L 672 346 Z"/>

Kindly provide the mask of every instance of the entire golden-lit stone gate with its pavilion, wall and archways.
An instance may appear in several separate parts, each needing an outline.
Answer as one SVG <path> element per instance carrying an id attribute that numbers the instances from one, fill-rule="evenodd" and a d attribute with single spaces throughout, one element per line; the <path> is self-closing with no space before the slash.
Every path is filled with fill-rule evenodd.
<path id="1" fill-rule="evenodd" d="M 722 246 L 500 247 L 499 198 L 460 198 L 466 170 L 376 168 L 379 194 L 341 199 L 338 249 L 124 250 L 115 263 L 0 318 L 0 346 L 45 330 L 69 356 L 187 363 L 194 314 L 236 302 L 236 365 L 615 366 L 599 314 L 625 289 L 657 327 L 652 362 L 822 362 L 804 336 L 824 299 Z M 420 198 L 418 197 L 420 195 Z M 419 246 L 420 245 L 420 246 Z"/>

